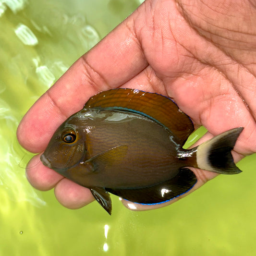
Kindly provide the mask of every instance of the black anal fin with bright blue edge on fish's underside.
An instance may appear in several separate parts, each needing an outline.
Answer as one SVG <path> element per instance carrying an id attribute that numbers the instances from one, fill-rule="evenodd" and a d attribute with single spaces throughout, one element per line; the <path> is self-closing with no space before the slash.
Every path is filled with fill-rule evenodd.
<path id="1" fill-rule="evenodd" d="M 182 168 L 173 178 L 162 183 L 142 188 L 106 188 L 106 191 L 134 203 L 154 205 L 185 194 L 196 182 L 195 173 L 188 168 Z"/>

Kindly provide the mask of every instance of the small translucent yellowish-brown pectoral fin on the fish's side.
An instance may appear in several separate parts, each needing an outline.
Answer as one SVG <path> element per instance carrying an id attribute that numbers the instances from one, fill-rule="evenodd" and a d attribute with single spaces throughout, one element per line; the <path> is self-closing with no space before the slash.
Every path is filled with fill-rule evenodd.
<path id="1" fill-rule="evenodd" d="M 112 147 L 86 160 L 83 164 L 93 166 L 90 168 L 92 172 L 104 170 L 106 166 L 110 167 L 113 163 L 121 161 L 126 156 L 127 149 L 126 145 Z"/>

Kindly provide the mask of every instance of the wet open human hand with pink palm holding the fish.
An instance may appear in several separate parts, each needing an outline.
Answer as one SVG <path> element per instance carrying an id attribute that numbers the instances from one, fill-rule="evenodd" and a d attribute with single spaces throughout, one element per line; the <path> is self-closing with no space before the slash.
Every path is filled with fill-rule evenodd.
<path id="1" fill-rule="evenodd" d="M 195 128 L 209 131 L 197 144 L 243 126 L 234 159 L 256 152 L 255 19 L 249 2 L 146 0 L 34 104 L 19 125 L 20 144 L 44 151 L 58 126 L 89 97 L 123 87 L 173 98 Z M 55 187 L 57 199 L 69 208 L 94 200 L 88 189 L 41 162 L 33 167 L 38 162 L 39 156 L 32 158 L 26 170 L 34 187 Z M 217 175 L 193 171 L 198 182 L 189 193 Z"/>

